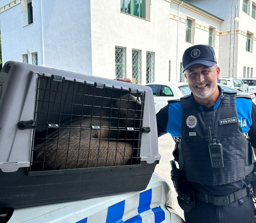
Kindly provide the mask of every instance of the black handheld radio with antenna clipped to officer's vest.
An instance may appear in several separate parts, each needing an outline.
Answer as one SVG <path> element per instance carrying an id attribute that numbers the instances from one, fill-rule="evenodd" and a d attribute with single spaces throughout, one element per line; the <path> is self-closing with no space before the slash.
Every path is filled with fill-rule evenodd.
<path id="1" fill-rule="evenodd" d="M 213 139 L 211 135 L 211 129 L 208 129 L 208 136 L 209 136 L 209 152 L 210 158 L 212 162 L 213 168 L 223 168 L 223 149 L 222 144 L 219 143 L 219 140 Z"/>

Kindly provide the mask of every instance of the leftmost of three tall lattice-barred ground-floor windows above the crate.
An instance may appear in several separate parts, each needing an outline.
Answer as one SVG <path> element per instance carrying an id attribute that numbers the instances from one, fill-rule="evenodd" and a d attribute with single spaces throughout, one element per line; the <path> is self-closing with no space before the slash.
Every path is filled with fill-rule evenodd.
<path id="1" fill-rule="evenodd" d="M 126 48 L 116 47 L 116 78 L 126 77 Z"/>

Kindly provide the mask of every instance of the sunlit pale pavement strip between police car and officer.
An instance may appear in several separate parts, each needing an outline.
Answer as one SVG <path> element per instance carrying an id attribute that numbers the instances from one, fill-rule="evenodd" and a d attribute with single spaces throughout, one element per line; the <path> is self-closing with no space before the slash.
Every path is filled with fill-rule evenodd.
<path id="1" fill-rule="evenodd" d="M 158 153 L 162 156 L 160 162 L 155 167 L 155 173 L 162 177 L 171 187 L 173 200 L 175 203 L 175 211 L 183 217 L 183 211 L 177 202 L 177 193 L 171 180 L 171 164 L 170 161 L 174 159 L 172 151 L 174 150 L 174 140 L 169 133 L 158 138 Z"/>

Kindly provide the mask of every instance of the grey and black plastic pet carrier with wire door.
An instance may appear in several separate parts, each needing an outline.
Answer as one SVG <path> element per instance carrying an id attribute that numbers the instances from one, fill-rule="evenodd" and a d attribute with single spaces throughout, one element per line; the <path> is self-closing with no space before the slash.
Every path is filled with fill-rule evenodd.
<path id="1" fill-rule="evenodd" d="M 144 190 L 160 160 L 151 88 L 9 61 L 0 208 Z"/>

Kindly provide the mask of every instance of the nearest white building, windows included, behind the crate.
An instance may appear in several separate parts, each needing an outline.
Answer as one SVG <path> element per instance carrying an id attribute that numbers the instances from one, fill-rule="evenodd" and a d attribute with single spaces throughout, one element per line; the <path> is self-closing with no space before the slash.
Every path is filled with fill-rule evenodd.
<path id="1" fill-rule="evenodd" d="M 2 60 L 137 84 L 184 81 L 194 44 L 221 52 L 224 20 L 181 0 L 1 0 Z M 253 31 L 251 31 L 253 32 Z"/>

